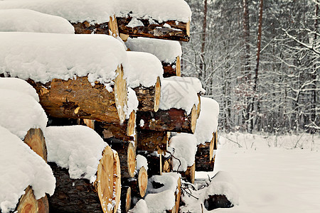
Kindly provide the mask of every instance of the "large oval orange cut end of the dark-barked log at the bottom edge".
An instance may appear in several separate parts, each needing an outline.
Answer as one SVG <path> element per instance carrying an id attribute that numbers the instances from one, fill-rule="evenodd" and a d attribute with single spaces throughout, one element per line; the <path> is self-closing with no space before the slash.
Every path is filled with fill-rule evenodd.
<path id="1" fill-rule="evenodd" d="M 120 162 L 117 153 L 114 153 L 110 146 L 107 146 L 102 154 L 95 185 L 97 185 L 103 212 L 117 210 L 121 192 Z M 114 208 L 108 211 L 107 205 L 112 203 L 114 203 Z"/>

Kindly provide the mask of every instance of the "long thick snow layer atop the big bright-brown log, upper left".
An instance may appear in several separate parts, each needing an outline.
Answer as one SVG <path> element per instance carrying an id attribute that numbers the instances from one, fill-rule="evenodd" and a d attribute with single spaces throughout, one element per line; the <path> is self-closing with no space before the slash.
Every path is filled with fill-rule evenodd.
<path id="1" fill-rule="evenodd" d="M 0 40 L 0 73 L 42 83 L 88 75 L 108 84 L 126 57 L 110 35 L 0 33 Z"/>

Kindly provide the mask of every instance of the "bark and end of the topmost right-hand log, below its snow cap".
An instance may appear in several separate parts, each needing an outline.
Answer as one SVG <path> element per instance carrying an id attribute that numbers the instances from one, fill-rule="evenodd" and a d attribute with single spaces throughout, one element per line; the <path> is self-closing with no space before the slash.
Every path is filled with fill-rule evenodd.
<path id="1" fill-rule="evenodd" d="M 152 23 L 150 23 L 149 19 L 138 19 L 144 23 L 144 26 L 131 28 L 127 25 L 132 20 L 132 17 L 117 18 L 119 33 L 129 35 L 131 37 L 148 37 L 180 41 L 190 40 L 190 21 L 188 21 L 188 23 L 178 21 L 157 23 L 156 20 L 152 20 Z M 168 24 L 170 27 L 164 26 L 165 24 Z M 124 35 L 122 35 L 122 37 L 124 37 Z"/>

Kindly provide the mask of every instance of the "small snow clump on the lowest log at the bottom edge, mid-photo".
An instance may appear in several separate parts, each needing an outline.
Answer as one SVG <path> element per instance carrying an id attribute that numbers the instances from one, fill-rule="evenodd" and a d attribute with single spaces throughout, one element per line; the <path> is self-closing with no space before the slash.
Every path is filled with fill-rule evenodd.
<path id="1" fill-rule="evenodd" d="M 148 194 L 144 198 L 149 212 L 163 213 L 171 210 L 175 204 L 174 193 L 171 190 L 165 190 L 156 194 Z"/>

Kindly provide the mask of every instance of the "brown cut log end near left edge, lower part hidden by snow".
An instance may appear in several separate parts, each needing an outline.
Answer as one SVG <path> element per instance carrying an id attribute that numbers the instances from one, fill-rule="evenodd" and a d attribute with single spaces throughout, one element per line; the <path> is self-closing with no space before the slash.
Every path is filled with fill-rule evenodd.
<path id="1" fill-rule="evenodd" d="M 47 146 L 41 129 L 30 129 L 23 141 L 47 162 Z"/>

